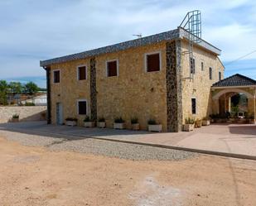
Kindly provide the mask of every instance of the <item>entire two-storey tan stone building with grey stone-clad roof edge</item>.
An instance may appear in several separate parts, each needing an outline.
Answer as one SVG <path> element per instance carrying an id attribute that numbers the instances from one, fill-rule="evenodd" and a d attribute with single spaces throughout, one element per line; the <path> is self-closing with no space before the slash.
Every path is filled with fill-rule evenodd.
<path id="1" fill-rule="evenodd" d="M 141 129 L 155 119 L 164 132 L 181 131 L 186 117 L 212 113 L 211 86 L 223 79 L 220 49 L 200 40 L 189 58 L 188 32 L 176 30 L 41 61 L 46 69 L 48 122 L 85 115 L 126 127 L 138 117 Z M 191 62 L 191 64 L 190 64 Z"/>

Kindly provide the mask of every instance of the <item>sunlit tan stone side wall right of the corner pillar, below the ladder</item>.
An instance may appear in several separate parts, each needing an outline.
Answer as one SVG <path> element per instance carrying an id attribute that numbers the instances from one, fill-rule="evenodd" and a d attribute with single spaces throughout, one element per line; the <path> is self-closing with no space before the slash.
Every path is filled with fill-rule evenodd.
<path id="1" fill-rule="evenodd" d="M 193 55 L 196 60 L 196 74 L 194 79 L 190 77 L 190 64 L 188 43 L 181 42 L 181 67 L 182 67 L 182 110 L 183 123 L 186 117 L 203 118 L 212 113 L 212 97 L 210 88 L 219 81 L 219 71 L 224 78 L 224 66 L 218 57 L 201 47 L 194 46 Z M 201 62 L 204 64 L 201 69 Z M 209 68 L 212 68 L 212 79 L 209 78 Z M 196 98 L 196 114 L 192 115 L 191 98 Z"/>

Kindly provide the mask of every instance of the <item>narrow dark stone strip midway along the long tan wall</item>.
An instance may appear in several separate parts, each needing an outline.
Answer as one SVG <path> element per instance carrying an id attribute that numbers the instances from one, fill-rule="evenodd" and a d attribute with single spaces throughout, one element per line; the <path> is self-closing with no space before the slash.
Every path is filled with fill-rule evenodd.
<path id="1" fill-rule="evenodd" d="M 90 114 L 91 119 L 97 120 L 97 90 L 96 90 L 96 60 L 90 59 Z"/>

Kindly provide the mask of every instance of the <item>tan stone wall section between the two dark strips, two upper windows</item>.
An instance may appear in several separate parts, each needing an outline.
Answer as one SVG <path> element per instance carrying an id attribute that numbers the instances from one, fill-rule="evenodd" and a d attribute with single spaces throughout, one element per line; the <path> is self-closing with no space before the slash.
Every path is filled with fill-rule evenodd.
<path id="1" fill-rule="evenodd" d="M 145 54 L 160 51 L 162 67 L 145 69 Z M 106 77 L 106 61 L 118 60 L 118 76 Z M 96 57 L 98 115 L 113 127 L 115 117 L 123 117 L 128 128 L 138 117 L 142 130 L 154 118 L 167 131 L 166 43 L 142 46 Z"/>

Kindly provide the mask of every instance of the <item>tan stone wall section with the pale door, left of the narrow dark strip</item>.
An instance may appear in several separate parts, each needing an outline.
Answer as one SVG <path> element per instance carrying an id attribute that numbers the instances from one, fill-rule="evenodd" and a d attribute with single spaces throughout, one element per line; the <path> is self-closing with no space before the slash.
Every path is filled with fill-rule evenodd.
<path id="1" fill-rule="evenodd" d="M 51 122 L 56 124 L 56 103 L 63 107 L 63 122 L 67 117 L 78 118 L 78 124 L 83 125 L 85 115 L 78 115 L 77 101 L 87 100 L 88 114 L 91 114 L 90 105 L 90 59 L 75 60 L 59 65 L 51 65 Z M 78 80 L 77 66 L 86 66 L 86 79 Z M 60 83 L 53 83 L 53 71 L 60 69 Z"/>

